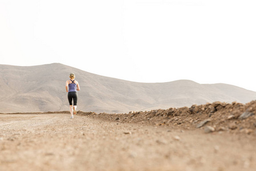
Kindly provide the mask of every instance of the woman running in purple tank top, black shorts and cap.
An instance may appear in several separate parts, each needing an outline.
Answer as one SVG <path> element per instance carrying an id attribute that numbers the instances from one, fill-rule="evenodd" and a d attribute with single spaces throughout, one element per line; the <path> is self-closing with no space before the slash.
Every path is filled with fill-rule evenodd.
<path id="1" fill-rule="evenodd" d="M 70 80 L 66 82 L 66 91 L 68 92 L 68 102 L 70 103 L 70 119 L 73 119 L 73 112 L 76 115 L 76 104 L 78 103 L 78 91 L 80 90 L 78 82 L 75 80 L 75 74 L 70 74 Z M 72 104 L 72 100 L 74 101 L 74 105 Z"/>

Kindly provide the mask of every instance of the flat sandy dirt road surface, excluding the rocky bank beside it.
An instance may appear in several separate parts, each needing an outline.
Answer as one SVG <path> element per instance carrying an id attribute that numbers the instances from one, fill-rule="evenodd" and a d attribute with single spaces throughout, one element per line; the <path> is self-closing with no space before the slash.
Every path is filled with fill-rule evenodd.
<path id="1" fill-rule="evenodd" d="M 1 114 L 0 170 L 256 170 L 254 135 Z"/>

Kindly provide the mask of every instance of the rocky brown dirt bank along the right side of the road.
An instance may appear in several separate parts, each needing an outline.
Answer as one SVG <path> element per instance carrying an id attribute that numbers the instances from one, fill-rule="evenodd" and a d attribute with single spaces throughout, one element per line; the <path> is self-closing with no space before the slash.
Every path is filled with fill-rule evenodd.
<path id="1" fill-rule="evenodd" d="M 216 101 L 192 107 L 158 109 L 125 114 L 78 111 L 78 115 L 97 117 L 120 123 L 169 125 L 182 129 L 205 129 L 205 132 L 226 131 L 254 134 L 256 130 L 256 101 L 247 104 Z"/>

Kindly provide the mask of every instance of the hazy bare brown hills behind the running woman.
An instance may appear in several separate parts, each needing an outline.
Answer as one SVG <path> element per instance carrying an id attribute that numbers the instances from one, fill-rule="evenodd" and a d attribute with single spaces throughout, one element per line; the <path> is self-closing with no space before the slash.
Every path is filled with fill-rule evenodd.
<path id="1" fill-rule="evenodd" d="M 74 72 L 79 91 L 78 110 L 127 113 L 221 101 L 248 103 L 256 92 L 229 84 L 198 84 L 190 80 L 136 83 L 109 78 L 59 63 L 19 67 L 0 65 L 0 112 L 67 111 L 65 89 Z"/>

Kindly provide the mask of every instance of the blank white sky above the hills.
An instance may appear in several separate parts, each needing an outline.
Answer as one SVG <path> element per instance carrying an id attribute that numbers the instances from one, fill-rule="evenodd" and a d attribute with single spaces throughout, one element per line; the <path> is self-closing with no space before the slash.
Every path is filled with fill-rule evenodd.
<path id="1" fill-rule="evenodd" d="M 255 0 L 0 0 L 0 64 L 256 91 Z"/>

